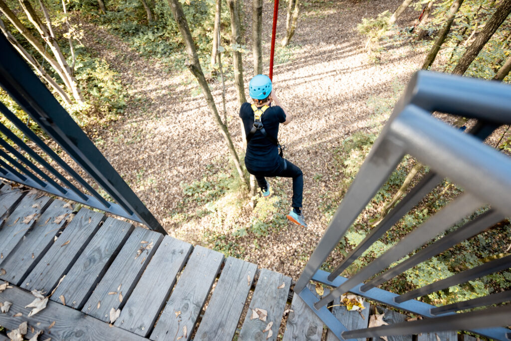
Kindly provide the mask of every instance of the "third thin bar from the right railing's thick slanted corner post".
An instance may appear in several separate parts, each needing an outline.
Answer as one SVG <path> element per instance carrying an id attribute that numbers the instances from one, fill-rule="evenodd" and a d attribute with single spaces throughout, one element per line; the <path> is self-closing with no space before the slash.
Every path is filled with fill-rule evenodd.
<path id="1" fill-rule="evenodd" d="M 464 226 L 461 226 L 456 231 L 448 234 L 442 239 L 435 241 L 434 243 L 417 252 L 410 258 L 404 260 L 403 262 L 387 270 L 380 276 L 369 281 L 367 284 L 362 286 L 361 290 L 367 291 L 370 288 L 378 286 L 383 282 L 386 282 L 392 279 L 393 277 L 396 277 L 399 274 L 407 271 L 408 269 L 411 269 L 413 266 L 425 261 L 426 259 L 429 259 L 439 254 L 440 252 L 449 249 L 450 247 L 456 245 L 457 243 L 475 236 L 476 234 L 482 232 L 484 229 L 497 224 L 503 219 L 504 216 L 501 213 L 490 209 L 479 215 L 477 218 L 475 218 L 475 220 L 468 222 Z M 331 277 L 329 277 L 329 279 L 331 279 Z"/>

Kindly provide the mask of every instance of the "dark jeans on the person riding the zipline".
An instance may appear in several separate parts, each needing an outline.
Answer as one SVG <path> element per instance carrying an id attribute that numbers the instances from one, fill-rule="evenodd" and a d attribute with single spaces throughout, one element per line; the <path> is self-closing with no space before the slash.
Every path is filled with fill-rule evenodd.
<path id="1" fill-rule="evenodd" d="M 272 171 L 252 171 L 247 165 L 247 171 L 255 176 L 257 183 L 261 189 L 268 188 L 268 183 L 264 177 L 283 177 L 293 178 L 293 201 L 292 207 L 301 207 L 301 201 L 304 192 L 304 174 L 301 173 L 301 169 L 292 164 L 286 159 L 282 159 L 283 162 Z"/>

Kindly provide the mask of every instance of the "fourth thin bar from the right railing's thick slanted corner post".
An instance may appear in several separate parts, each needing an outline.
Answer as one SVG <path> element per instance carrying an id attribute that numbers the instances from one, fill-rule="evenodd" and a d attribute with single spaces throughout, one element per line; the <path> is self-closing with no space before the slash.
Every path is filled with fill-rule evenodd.
<path id="1" fill-rule="evenodd" d="M 456 275 L 447 277 L 443 280 L 431 283 L 429 285 L 425 285 L 415 290 L 408 291 L 408 293 L 396 297 L 394 301 L 396 301 L 396 303 L 401 303 L 413 299 L 415 297 L 434 293 L 435 291 L 448 288 L 458 283 L 464 283 L 475 278 L 483 277 L 488 274 L 493 274 L 494 272 L 497 271 L 509 269 L 509 267 L 511 267 L 511 255 L 473 267 L 470 270 L 460 272 Z"/>

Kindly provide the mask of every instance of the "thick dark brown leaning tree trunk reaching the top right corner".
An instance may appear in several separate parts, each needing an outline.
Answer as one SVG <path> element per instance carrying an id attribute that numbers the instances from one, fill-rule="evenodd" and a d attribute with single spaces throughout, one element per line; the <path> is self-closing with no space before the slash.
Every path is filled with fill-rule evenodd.
<path id="1" fill-rule="evenodd" d="M 484 28 L 479 32 L 474 42 L 467 48 L 458 65 L 452 71 L 453 74 L 463 75 L 469 68 L 472 61 L 477 57 L 484 45 L 493 36 L 502 22 L 511 13 L 511 0 L 503 0 L 493 16 L 486 22 Z"/>

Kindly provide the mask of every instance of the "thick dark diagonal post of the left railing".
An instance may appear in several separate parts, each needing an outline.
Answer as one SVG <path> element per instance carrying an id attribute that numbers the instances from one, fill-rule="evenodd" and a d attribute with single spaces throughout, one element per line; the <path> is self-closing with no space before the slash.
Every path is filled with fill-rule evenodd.
<path id="1" fill-rule="evenodd" d="M 167 234 L 108 160 L 41 83 L 25 61 L 0 37 L 0 85 L 128 214 Z"/>

